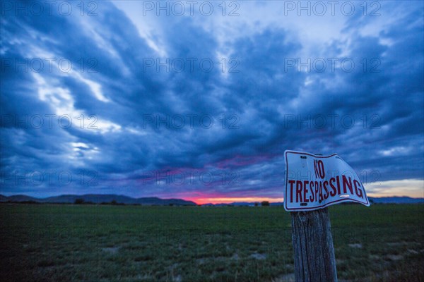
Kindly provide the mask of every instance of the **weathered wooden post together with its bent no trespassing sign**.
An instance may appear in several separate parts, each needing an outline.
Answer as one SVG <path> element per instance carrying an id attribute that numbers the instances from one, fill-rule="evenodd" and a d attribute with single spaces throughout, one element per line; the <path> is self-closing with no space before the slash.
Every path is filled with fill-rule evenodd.
<path id="1" fill-rule="evenodd" d="M 285 150 L 284 209 L 292 216 L 297 282 L 336 282 L 330 204 L 369 207 L 358 174 L 337 154 L 322 156 Z M 325 169 L 327 168 L 327 169 Z"/>

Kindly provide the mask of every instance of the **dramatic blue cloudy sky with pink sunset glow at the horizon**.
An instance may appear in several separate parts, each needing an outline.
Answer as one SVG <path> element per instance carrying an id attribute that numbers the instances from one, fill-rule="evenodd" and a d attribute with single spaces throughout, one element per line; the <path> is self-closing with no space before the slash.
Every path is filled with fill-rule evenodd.
<path id="1" fill-rule="evenodd" d="M 283 199 L 285 149 L 424 197 L 423 1 L 1 1 L 1 188 Z"/>

